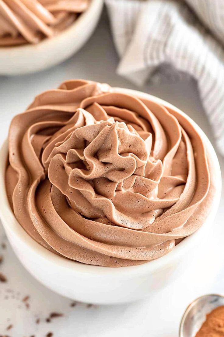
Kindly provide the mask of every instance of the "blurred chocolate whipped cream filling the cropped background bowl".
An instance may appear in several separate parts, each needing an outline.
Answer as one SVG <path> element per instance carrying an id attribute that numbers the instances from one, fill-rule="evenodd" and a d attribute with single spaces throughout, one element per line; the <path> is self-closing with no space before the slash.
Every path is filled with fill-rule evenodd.
<path id="1" fill-rule="evenodd" d="M 69 27 L 90 0 L 0 0 L 0 47 L 38 43 Z"/>

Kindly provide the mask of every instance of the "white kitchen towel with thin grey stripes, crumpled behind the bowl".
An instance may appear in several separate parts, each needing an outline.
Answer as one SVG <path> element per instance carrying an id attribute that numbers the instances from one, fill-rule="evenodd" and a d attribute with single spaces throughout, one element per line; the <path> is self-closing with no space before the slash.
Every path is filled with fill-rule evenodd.
<path id="1" fill-rule="evenodd" d="M 193 76 L 224 155 L 224 1 L 105 0 L 118 74 L 143 85 L 161 64 Z"/>

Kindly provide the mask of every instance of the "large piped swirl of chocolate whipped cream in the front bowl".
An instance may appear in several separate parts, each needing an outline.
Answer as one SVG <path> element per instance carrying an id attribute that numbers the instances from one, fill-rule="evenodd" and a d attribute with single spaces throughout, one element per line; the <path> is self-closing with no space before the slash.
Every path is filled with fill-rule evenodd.
<path id="1" fill-rule="evenodd" d="M 7 195 L 49 250 L 86 264 L 138 265 L 204 222 L 214 193 L 191 122 L 91 81 L 37 96 L 9 130 Z"/>

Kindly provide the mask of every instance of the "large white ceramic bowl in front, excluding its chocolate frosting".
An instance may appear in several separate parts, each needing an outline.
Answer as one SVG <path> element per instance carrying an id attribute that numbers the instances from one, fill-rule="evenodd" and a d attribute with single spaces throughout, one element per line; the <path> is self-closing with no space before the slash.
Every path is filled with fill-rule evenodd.
<path id="1" fill-rule="evenodd" d="M 115 88 L 118 90 L 118 88 Z M 148 94 L 134 90 L 119 91 L 149 98 L 170 106 L 185 115 L 173 105 Z M 187 117 L 185 115 L 185 117 Z M 205 260 L 208 251 L 206 237 L 214 225 L 215 214 L 221 195 L 221 172 L 216 153 L 204 132 L 187 117 L 203 137 L 211 157 L 213 174 L 217 179 L 216 194 L 211 212 L 205 223 L 191 236 L 180 242 L 169 254 L 133 267 L 109 268 L 85 265 L 58 256 L 35 242 L 20 226 L 10 209 L 5 192 L 5 166 L 8 158 L 7 142 L 0 150 L 0 217 L 6 235 L 15 254 L 25 268 L 41 283 L 65 297 L 94 304 L 125 303 L 146 296 L 180 278 L 183 271 L 192 272 L 191 265 Z M 206 261 L 204 261 L 207 263 Z M 197 278 L 195 279 L 197 282 Z"/>

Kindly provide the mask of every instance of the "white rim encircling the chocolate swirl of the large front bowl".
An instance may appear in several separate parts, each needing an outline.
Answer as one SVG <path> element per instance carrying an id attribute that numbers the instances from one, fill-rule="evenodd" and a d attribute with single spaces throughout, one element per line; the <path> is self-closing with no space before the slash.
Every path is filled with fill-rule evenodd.
<path id="1" fill-rule="evenodd" d="M 203 237 L 203 232 L 206 230 L 206 224 L 211 225 L 213 222 L 220 198 L 221 198 L 221 189 L 222 189 L 222 180 L 221 180 L 221 170 L 220 170 L 220 165 L 219 161 L 216 155 L 216 152 L 210 143 L 208 137 L 206 134 L 201 130 L 201 128 L 189 117 L 187 116 L 184 112 L 182 112 L 180 109 L 176 108 L 173 104 L 168 103 L 167 101 L 158 98 L 156 96 L 143 93 L 140 91 L 132 90 L 132 89 L 125 89 L 125 88 L 112 88 L 113 92 L 120 92 L 124 94 L 129 94 L 129 95 L 134 95 L 139 98 L 146 98 L 153 100 L 156 103 L 162 104 L 164 106 L 167 106 L 168 108 L 171 108 L 184 117 L 186 117 L 192 125 L 195 127 L 197 132 L 201 135 L 203 138 L 207 151 L 209 152 L 210 157 L 212 158 L 211 163 L 214 166 L 213 167 L 213 172 L 214 176 L 216 177 L 217 181 L 217 186 L 216 186 L 216 193 L 213 198 L 213 207 L 211 209 L 210 214 L 205 220 L 205 223 L 197 229 L 196 232 L 194 232 L 192 235 L 186 237 L 183 241 L 181 241 L 170 253 L 146 262 L 145 264 L 142 265 L 137 265 L 137 266 L 128 266 L 128 267 L 120 267 L 120 268 L 112 268 L 112 267 L 103 267 L 103 266 L 95 266 L 95 265 L 87 265 L 83 264 L 77 261 L 69 260 L 67 258 L 64 258 L 63 256 L 59 256 L 39 243 L 37 243 L 34 239 L 32 239 L 27 232 L 21 227 L 21 225 L 18 223 L 16 220 L 9 202 L 8 198 L 6 195 L 6 189 L 5 189 L 5 166 L 8 160 L 8 142 L 5 140 L 3 145 L 1 146 L 0 149 L 0 154 L 1 154 L 1 163 L 0 163 L 0 190 L 2 193 L 0 193 L 0 218 L 2 220 L 2 224 L 5 227 L 6 232 L 11 231 L 13 232 L 13 235 L 17 236 L 17 238 L 23 242 L 23 245 L 26 245 L 29 249 L 32 251 L 36 252 L 37 255 L 40 255 L 43 259 L 47 259 L 48 261 L 51 261 L 53 264 L 57 264 L 61 268 L 69 268 L 70 270 L 73 269 L 74 271 L 78 273 L 88 273 L 88 274 L 98 274 L 98 275 L 103 275 L 103 274 L 109 274 L 110 277 L 119 275 L 120 277 L 127 277 L 127 276 L 134 276 L 134 275 L 142 275 L 142 274 L 149 274 L 150 272 L 154 272 L 155 270 L 158 269 L 166 269 L 167 266 L 172 265 L 175 260 L 179 259 L 184 252 L 189 250 L 191 246 L 196 244 L 198 240 L 200 240 L 201 237 Z M 199 239 L 198 239 L 199 237 Z"/>

